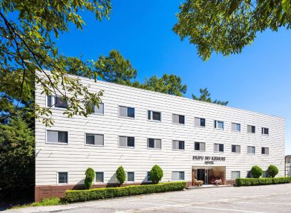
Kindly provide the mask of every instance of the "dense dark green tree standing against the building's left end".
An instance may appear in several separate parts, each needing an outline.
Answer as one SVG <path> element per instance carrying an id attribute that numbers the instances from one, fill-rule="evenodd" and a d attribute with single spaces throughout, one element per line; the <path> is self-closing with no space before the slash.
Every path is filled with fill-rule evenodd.
<path id="1" fill-rule="evenodd" d="M 0 199 L 33 195 L 35 137 L 21 115 L 0 124 L 0 176 Z"/>

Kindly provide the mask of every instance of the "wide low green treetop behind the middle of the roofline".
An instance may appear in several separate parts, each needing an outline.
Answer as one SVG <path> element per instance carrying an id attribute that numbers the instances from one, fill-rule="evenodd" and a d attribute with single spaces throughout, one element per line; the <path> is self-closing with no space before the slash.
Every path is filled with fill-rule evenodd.
<path id="1" fill-rule="evenodd" d="M 181 77 L 173 74 L 164 74 L 161 78 L 154 75 L 149 79 L 145 79 L 144 84 L 138 84 L 136 86 L 142 89 L 148 89 L 150 91 L 177 96 L 183 96 L 187 90 L 186 84 L 182 84 Z"/>

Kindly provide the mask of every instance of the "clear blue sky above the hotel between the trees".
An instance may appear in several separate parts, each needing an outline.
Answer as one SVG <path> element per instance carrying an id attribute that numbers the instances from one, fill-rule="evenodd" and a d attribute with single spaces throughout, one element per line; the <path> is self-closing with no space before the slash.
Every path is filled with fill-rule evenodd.
<path id="1" fill-rule="evenodd" d="M 138 80 L 173 73 L 187 84 L 186 97 L 207 87 L 213 99 L 230 107 L 285 118 L 285 154 L 291 154 L 291 30 L 258 33 L 240 55 L 212 55 L 202 62 L 193 44 L 172 28 L 180 1 L 112 1 L 110 19 L 96 21 L 85 12 L 83 30 L 60 35 L 60 53 L 97 59 L 120 50 L 138 69 Z"/>

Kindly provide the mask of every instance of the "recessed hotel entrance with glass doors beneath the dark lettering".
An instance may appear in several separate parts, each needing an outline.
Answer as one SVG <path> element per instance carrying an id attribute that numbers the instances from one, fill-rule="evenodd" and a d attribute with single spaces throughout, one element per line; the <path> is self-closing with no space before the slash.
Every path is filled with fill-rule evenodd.
<path id="1" fill-rule="evenodd" d="M 204 184 L 225 184 L 226 167 L 192 167 L 192 185 L 196 185 L 199 180 Z M 216 181 L 215 181 L 216 180 Z M 201 182 L 201 181 L 200 181 Z"/>

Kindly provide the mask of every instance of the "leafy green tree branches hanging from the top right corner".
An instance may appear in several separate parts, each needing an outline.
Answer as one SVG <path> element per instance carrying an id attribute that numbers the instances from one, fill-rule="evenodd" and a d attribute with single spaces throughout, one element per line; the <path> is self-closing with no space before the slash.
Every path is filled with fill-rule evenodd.
<path id="1" fill-rule="evenodd" d="M 186 0 L 179 6 L 173 31 L 197 46 L 198 55 L 241 53 L 267 28 L 277 31 L 291 26 L 290 0 Z"/>

